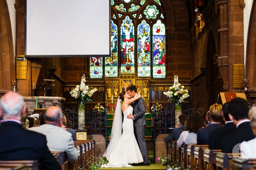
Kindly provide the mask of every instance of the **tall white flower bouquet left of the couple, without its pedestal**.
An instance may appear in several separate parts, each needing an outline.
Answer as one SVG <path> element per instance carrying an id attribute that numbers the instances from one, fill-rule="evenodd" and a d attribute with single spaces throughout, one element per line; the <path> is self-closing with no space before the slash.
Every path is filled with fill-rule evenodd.
<path id="1" fill-rule="evenodd" d="M 89 88 L 88 85 L 85 85 L 85 75 L 83 75 L 81 79 L 81 84 L 77 85 L 75 89 L 73 89 L 70 94 L 72 97 L 75 98 L 77 102 L 89 102 L 92 101 L 90 97 L 92 97 L 93 93 L 96 92 L 98 89 L 92 87 Z"/>

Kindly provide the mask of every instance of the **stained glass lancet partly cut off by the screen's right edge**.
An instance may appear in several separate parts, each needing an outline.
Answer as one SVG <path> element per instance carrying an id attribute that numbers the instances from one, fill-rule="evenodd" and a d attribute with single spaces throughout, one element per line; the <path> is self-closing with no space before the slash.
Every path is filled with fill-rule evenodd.
<path id="1" fill-rule="evenodd" d="M 105 77 L 117 77 L 117 26 L 111 20 L 111 56 L 105 58 Z"/>

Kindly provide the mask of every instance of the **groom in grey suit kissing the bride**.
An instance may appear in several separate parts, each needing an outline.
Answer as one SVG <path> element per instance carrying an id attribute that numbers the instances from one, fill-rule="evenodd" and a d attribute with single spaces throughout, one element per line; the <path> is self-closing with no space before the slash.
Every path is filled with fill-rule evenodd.
<path id="1" fill-rule="evenodd" d="M 127 93 L 131 97 L 136 97 L 138 95 L 137 88 L 135 85 L 131 85 L 127 87 Z M 146 107 L 144 104 L 144 100 L 142 98 L 134 101 L 132 103 L 133 112 L 130 115 L 127 115 L 128 119 L 133 119 L 134 126 L 134 135 L 139 144 L 140 152 L 143 158 L 143 163 L 139 165 L 150 165 L 149 157 L 148 157 L 148 149 L 145 141 L 145 127 L 146 127 Z"/>

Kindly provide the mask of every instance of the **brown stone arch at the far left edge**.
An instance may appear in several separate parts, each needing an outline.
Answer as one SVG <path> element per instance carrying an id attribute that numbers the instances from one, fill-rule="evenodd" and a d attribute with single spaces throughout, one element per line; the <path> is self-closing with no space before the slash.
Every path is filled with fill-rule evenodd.
<path id="1" fill-rule="evenodd" d="M 0 0 L 0 21 L 0 92 L 4 93 L 15 85 L 12 26 L 6 0 Z"/>

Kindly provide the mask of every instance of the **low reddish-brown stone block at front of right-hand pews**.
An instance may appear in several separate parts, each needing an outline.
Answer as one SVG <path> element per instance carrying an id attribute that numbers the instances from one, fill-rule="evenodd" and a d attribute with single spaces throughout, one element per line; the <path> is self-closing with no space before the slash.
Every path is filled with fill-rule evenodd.
<path id="1" fill-rule="evenodd" d="M 158 157 L 164 155 L 166 156 L 166 147 L 167 147 L 167 143 L 164 142 L 164 138 L 165 137 L 168 137 L 169 134 L 159 134 L 157 137 L 156 137 L 156 158 L 157 159 Z M 156 164 L 160 164 L 161 162 L 160 161 L 157 161 L 156 160 Z"/>

